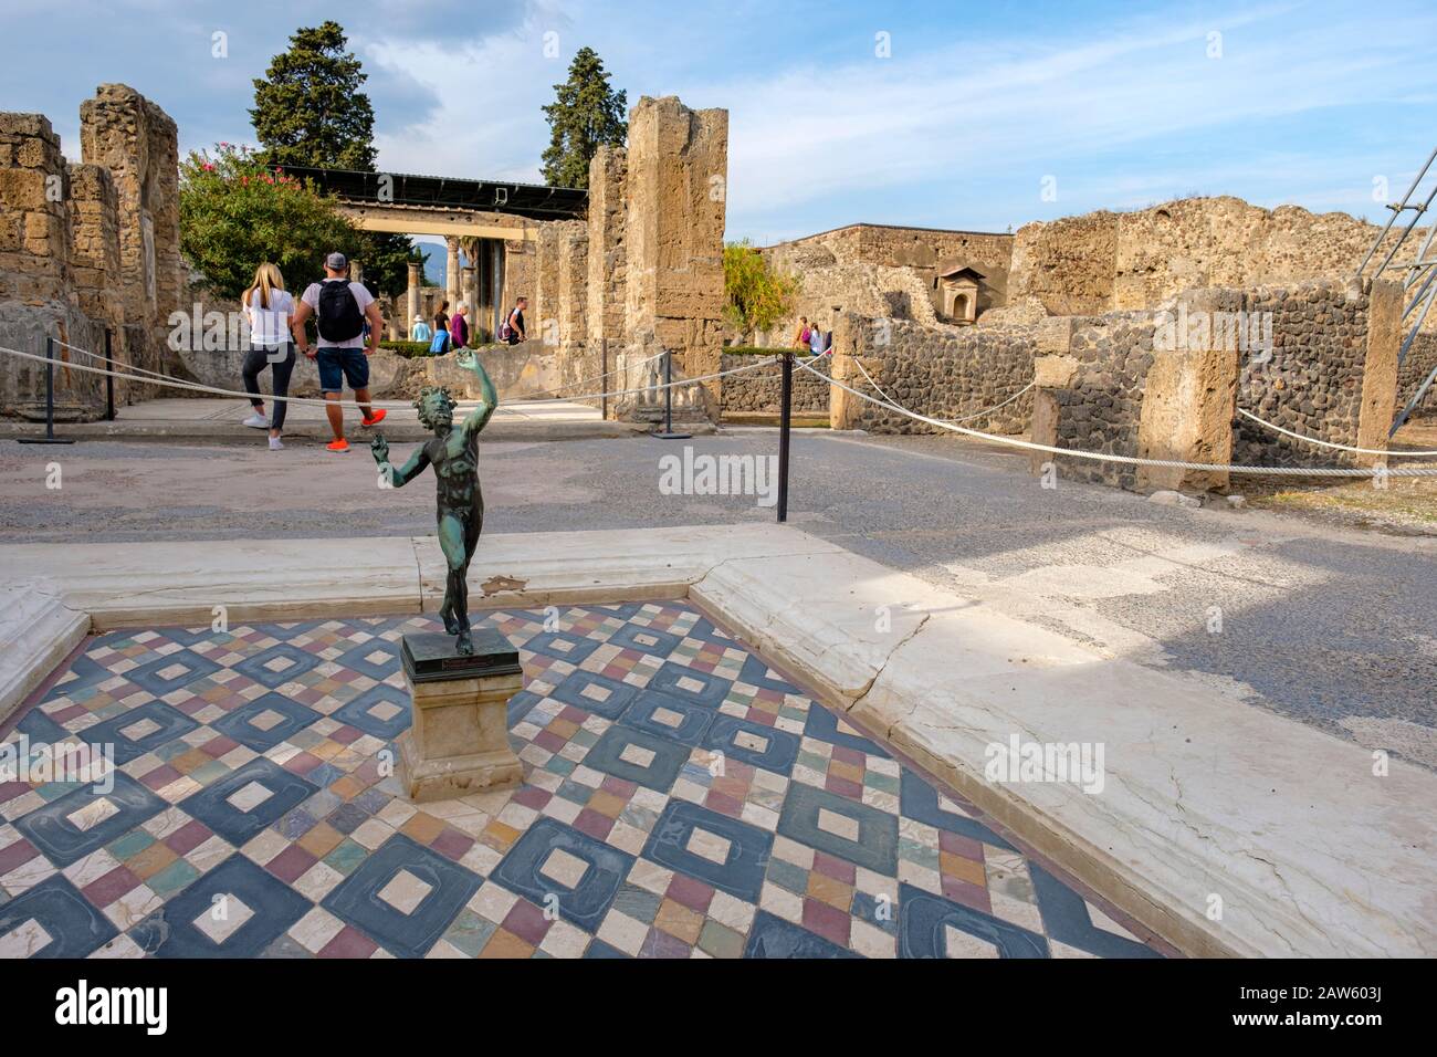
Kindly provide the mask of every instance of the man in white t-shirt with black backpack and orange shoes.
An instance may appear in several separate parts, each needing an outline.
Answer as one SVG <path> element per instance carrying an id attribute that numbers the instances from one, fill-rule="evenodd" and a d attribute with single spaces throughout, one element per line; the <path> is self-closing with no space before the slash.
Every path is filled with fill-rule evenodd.
<path id="1" fill-rule="evenodd" d="M 312 349 L 305 334 L 310 316 L 318 319 L 319 347 Z M 365 324 L 369 325 L 369 339 L 365 342 Z M 379 348 L 379 334 L 384 331 L 384 315 L 374 295 L 362 283 L 349 282 L 349 262 L 343 253 L 325 257 L 325 280 L 310 283 L 295 308 L 290 332 L 299 351 L 319 365 L 319 388 L 329 416 L 329 429 L 335 439 L 326 444 L 331 452 L 348 452 L 345 440 L 345 413 L 339 406 L 345 383 L 355 393 L 355 400 L 364 417 L 362 426 L 378 424 L 385 411 L 369 407 L 369 354 Z"/>

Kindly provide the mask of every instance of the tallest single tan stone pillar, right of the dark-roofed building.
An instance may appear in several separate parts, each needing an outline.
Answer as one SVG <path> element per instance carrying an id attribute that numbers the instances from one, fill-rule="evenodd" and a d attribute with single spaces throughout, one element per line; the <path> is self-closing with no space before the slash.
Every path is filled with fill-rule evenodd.
<path id="1" fill-rule="evenodd" d="M 645 96 L 629 112 L 627 338 L 632 344 L 639 332 L 652 332 L 690 377 L 717 371 L 723 351 L 727 173 L 727 111 Z M 701 397 L 714 420 L 718 388 L 718 381 L 706 383 Z M 685 393 L 684 403 L 693 400 Z"/>

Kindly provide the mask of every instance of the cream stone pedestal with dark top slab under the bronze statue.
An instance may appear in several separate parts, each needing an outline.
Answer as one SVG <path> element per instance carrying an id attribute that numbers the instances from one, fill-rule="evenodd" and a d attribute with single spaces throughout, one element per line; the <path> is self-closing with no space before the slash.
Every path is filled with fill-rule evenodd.
<path id="1" fill-rule="evenodd" d="M 454 800 L 523 781 L 509 748 L 509 699 L 523 687 L 519 651 L 493 628 L 474 653 L 447 634 L 407 634 L 399 651 L 414 725 L 397 739 L 398 777 L 415 802 Z"/>

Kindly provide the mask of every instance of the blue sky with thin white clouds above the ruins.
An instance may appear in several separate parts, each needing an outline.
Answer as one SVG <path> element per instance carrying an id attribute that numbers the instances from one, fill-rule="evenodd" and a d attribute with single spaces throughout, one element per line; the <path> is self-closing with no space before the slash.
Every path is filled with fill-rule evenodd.
<path id="1" fill-rule="evenodd" d="M 155 99 L 184 148 L 251 141 L 250 79 L 325 17 L 369 72 L 381 168 L 537 180 L 539 106 L 589 45 L 629 104 L 729 108 L 729 237 L 759 243 L 1188 194 L 1378 219 L 1374 181 L 1400 197 L 1437 137 L 1430 0 L 6 0 L 0 99 L 46 114 L 70 157 L 102 81 Z"/>

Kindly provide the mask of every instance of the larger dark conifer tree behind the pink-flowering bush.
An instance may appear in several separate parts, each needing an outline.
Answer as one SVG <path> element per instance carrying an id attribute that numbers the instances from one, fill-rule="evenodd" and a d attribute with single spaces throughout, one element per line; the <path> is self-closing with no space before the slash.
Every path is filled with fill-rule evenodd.
<path id="1" fill-rule="evenodd" d="M 254 79 L 250 121 L 264 163 L 375 171 L 374 106 L 359 91 L 368 75 L 348 43 L 338 22 L 300 27 Z M 408 285 L 407 236 L 364 233 L 359 253 L 368 286 L 398 293 Z"/>

